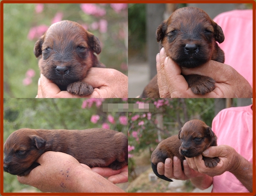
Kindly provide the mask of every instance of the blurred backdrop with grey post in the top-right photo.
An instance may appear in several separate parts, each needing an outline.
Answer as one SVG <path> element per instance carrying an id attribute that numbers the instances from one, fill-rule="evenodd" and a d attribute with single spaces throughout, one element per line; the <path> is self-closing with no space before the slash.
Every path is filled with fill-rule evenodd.
<path id="1" fill-rule="evenodd" d="M 213 19 L 233 9 L 251 9 L 252 4 L 129 4 L 128 5 L 128 97 L 142 94 L 156 75 L 156 28 L 180 7 L 198 7 Z"/>

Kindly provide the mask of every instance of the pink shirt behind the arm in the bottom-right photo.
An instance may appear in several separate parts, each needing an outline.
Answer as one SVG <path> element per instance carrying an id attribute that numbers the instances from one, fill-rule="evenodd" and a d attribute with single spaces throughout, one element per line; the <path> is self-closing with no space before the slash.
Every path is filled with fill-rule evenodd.
<path id="1" fill-rule="evenodd" d="M 252 105 L 230 107 L 213 119 L 218 145 L 229 145 L 252 163 Z M 230 172 L 213 177 L 212 192 L 249 192 Z"/>

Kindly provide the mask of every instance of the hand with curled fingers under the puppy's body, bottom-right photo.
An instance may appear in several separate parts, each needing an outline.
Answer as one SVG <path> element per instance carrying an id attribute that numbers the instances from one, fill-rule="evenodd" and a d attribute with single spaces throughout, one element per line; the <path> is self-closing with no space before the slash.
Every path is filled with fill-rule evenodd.
<path id="1" fill-rule="evenodd" d="M 167 158 L 165 163 L 162 162 L 157 164 L 157 171 L 160 175 L 165 175 L 167 178 L 176 180 L 188 180 L 189 178 L 195 178 L 202 176 L 203 174 L 195 171 L 189 167 L 187 161 L 183 161 L 184 171 L 182 171 L 181 161 L 178 157 L 174 156 L 173 160 Z"/>

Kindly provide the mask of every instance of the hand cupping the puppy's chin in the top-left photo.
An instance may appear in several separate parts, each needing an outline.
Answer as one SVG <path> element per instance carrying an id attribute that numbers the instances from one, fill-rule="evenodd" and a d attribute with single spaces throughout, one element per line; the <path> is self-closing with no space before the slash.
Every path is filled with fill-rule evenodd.
<path id="1" fill-rule="evenodd" d="M 127 98 L 128 77 L 115 69 L 92 67 L 83 82 L 93 86 L 89 96 L 79 96 L 61 91 L 55 83 L 41 74 L 37 98 Z"/>

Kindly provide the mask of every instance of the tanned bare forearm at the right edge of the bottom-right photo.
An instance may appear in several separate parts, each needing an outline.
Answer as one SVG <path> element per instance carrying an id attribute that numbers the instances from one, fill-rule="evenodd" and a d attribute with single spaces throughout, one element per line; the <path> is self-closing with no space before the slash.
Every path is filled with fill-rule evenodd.
<path id="1" fill-rule="evenodd" d="M 252 163 L 240 155 L 240 162 L 236 169 L 230 171 L 236 178 L 252 192 Z"/>

